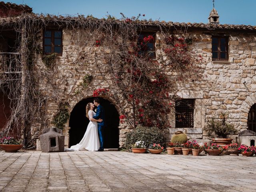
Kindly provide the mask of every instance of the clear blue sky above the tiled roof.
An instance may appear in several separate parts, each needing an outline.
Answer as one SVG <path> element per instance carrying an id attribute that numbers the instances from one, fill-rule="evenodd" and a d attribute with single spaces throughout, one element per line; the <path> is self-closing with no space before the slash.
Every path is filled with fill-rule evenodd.
<path id="1" fill-rule="evenodd" d="M 208 22 L 212 0 L 4 0 L 26 4 L 34 13 L 63 15 L 92 14 L 106 17 L 107 12 L 121 18 L 145 14 L 142 19 L 173 22 Z M 215 0 L 221 24 L 256 25 L 256 0 Z"/>

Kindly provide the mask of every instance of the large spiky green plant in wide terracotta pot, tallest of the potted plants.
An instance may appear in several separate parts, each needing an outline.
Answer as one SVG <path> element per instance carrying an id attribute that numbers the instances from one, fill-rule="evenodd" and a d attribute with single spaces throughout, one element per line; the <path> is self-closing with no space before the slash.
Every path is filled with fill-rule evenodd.
<path id="1" fill-rule="evenodd" d="M 206 134 L 207 136 L 214 136 L 212 142 L 218 145 L 229 145 L 232 142 L 231 138 L 228 138 L 228 135 L 237 134 L 237 130 L 234 128 L 234 125 L 226 122 L 226 113 L 221 112 L 220 118 L 222 121 L 214 120 L 214 118 L 208 119 L 206 124 Z"/>

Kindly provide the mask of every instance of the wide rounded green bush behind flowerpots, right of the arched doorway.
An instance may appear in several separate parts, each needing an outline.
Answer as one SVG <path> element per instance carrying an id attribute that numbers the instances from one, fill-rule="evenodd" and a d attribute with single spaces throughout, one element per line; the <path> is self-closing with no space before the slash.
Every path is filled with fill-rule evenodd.
<path id="1" fill-rule="evenodd" d="M 144 141 L 146 148 L 152 143 L 159 143 L 161 146 L 165 144 L 165 137 L 162 130 L 156 127 L 138 126 L 131 132 L 126 134 L 126 149 L 132 148 L 132 145 L 137 141 Z"/>

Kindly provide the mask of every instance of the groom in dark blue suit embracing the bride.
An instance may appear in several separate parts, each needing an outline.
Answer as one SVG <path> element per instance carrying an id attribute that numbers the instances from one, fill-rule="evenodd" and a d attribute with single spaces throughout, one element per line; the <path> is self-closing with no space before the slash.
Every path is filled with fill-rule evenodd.
<path id="1" fill-rule="evenodd" d="M 100 105 L 100 100 L 98 98 L 95 98 L 93 100 L 94 105 L 97 107 L 97 112 L 96 115 L 93 117 L 94 119 L 102 119 L 102 122 L 98 122 L 98 135 L 99 135 L 99 139 L 100 139 L 100 149 L 98 151 L 104 151 L 103 148 L 103 129 L 106 126 L 106 122 L 105 122 L 105 112 L 104 112 L 104 108 Z"/>

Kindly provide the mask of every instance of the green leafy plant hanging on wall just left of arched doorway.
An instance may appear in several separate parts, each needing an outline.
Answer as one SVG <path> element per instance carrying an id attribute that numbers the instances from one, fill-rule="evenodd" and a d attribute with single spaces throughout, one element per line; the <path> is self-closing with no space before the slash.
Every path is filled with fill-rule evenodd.
<path id="1" fill-rule="evenodd" d="M 52 124 L 54 124 L 56 128 L 63 129 L 64 124 L 66 124 L 69 118 L 68 107 L 68 102 L 61 102 L 59 104 L 58 112 L 54 115 L 52 120 Z"/>

